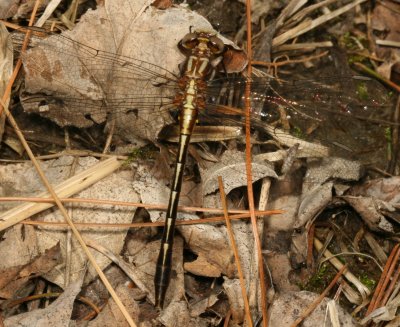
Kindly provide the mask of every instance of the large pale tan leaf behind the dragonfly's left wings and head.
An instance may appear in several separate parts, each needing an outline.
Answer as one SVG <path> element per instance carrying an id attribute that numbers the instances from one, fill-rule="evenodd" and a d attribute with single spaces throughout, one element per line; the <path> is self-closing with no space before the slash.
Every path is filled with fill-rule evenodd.
<path id="1" fill-rule="evenodd" d="M 52 36 L 43 41 L 43 46 L 28 52 L 24 56 L 25 109 L 40 111 L 62 126 L 87 127 L 93 121 L 104 122 L 107 113 L 115 112 L 115 106 L 137 94 L 142 96 L 141 107 L 147 99 L 151 108 L 137 110 L 134 102 L 127 108 L 129 114 L 115 117 L 116 134 L 131 141 L 137 137 L 155 141 L 160 130 L 173 121 L 154 98 L 174 95 L 170 85 L 158 84 L 165 82 L 162 76 L 175 79 L 170 72 L 179 73 L 184 56 L 177 44 L 190 28 L 210 30 L 211 26 L 204 17 L 183 7 L 159 10 L 150 4 L 148 0 L 107 1 L 104 7 L 88 11 L 76 28 L 63 34 L 75 43 Z M 146 76 L 143 69 L 149 69 Z M 32 99 L 32 93 L 55 98 Z M 154 115 L 156 111 L 159 113 Z"/>

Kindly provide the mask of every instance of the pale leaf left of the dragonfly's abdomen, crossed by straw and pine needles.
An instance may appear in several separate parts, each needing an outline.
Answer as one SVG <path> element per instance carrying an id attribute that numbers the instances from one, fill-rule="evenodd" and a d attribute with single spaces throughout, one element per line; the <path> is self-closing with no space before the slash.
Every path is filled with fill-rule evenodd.
<path id="1" fill-rule="evenodd" d="M 69 177 L 72 157 L 61 157 L 58 160 L 50 160 L 42 162 L 42 169 L 50 182 L 53 184 L 59 183 Z M 94 158 L 80 158 L 77 164 L 75 173 L 85 170 L 87 167 L 92 166 L 97 162 Z M 40 180 L 37 178 L 37 173 L 31 164 L 16 164 L 0 167 L 2 175 L 2 183 L 7 186 L 2 189 L 3 194 L 14 195 L 36 195 L 43 191 L 44 187 L 41 185 Z M 138 198 L 136 193 L 131 188 L 132 173 L 130 171 L 119 171 L 114 175 L 110 175 L 95 185 L 87 188 L 86 190 L 77 194 L 82 198 L 98 198 L 98 199 L 115 199 L 121 201 L 137 202 Z M 29 192 L 27 192 L 26 185 L 29 185 Z M 7 190 L 12 190 L 12 193 Z M 114 207 L 103 206 L 99 208 L 98 205 L 73 205 L 72 217 L 73 220 L 87 223 L 130 223 L 132 220 L 134 209 L 127 207 Z M 63 217 L 56 209 L 48 209 L 43 213 L 36 215 L 36 219 L 50 222 L 64 222 Z M 12 229 L 9 233 L 17 230 Z M 114 252 L 119 253 L 123 247 L 127 230 L 109 230 L 85 228 L 81 230 L 83 237 L 85 235 L 96 242 L 107 246 L 107 248 Z M 18 238 L 18 235 L 12 236 L 7 234 L 8 237 Z M 46 249 L 54 246 L 58 242 L 61 244 L 63 258 L 66 258 L 66 230 L 65 228 L 41 226 L 36 228 L 36 239 L 39 253 L 43 253 Z M 28 246 L 28 244 L 24 244 Z M 34 248 L 32 248 L 33 250 Z M 21 250 L 21 253 L 29 253 L 28 250 Z M 69 278 L 75 280 L 80 276 L 82 270 L 86 269 L 86 257 L 83 254 L 81 247 L 75 240 L 72 239 L 72 253 L 71 266 Z M 100 253 L 95 253 L 96 260 L 100 267 L 104 268 L 110 260 Z M 93 268 L 89 268 L 89 274 L 86 281 L 95 278 L 97 274 Z M 64 270 L 54 269 L 45 276 L 48 280 L 54 282 L 60 287 L 65 285 L 65 272 Z"/>

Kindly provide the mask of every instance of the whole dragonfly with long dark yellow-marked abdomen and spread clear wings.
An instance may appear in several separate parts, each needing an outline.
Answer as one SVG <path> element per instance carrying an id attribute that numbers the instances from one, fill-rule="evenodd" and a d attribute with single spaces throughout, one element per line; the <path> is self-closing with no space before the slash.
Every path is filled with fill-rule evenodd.
<path id="1" fill-rule="evenodd" d="M 13 37 L 18 43 L 20 36 Z M 24 55 L 25 71 L 30 73 L 30 79 L 44 80 L 49 90 L 43 86 L 35 89 L 33 83 L 33 88 L 21 97 L 28 112 L 39 113 L 61 126 L 78 127 L 102 123 L 106 118 L 118 124 L 133 116 L 136 122 L 130 126 L 130 133 L 149 140 L 156 139 L 159 133 L 153 125 L 168 125 L 178 117 L 177 158 L 155 274 L 156 304 L 162 308 L 171 274 L 175 221 L 190 135 L 197 120 L 242 126 L 240 108 L 246 79 L 224 74 L 213 77 L 226 46 L 212 32 L 191 32 L 179 42 L 178 48 L 186 56 L 181 74 L 92 48 L 62 34 L 46 39 L 34 37 L 33 44 Z M 62 66 L 61 62 L 73 59 L 82 65 L 68 69 Z M 60 78 L 62 74 L 83 76 L 86 84 L 65 82 Z M 252 121 L 279 142 L 283 136 L 294 135 L 307 147 L 309 143 L 301 141 L 317 134 L 319 144 L 328 146 L 335 155 L 359 159 L 366 154 L 371 160 L 370 153 L 386 145 L 385 128 L 394 125 L 390 122 L 390 101 L 369 93 L 375 88 L 375 82 L 350 75 L 321 80 L 252 77 Z M 311 132 L 307 131 L 310 126 Z M 362 150 L 356 149 L 354 143 L 361 144 Z M 313 151 L 319 155 L 318 150 Z"/>

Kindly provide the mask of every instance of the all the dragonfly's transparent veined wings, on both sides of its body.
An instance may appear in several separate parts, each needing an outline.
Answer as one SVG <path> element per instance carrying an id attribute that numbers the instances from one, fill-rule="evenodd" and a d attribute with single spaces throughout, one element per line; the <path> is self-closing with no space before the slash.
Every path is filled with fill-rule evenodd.
<path id="1" fill-rule="evenodd" d="M 45 40 L 35 37 L 33 44 L 23 57 L 27 111 L 62 126 L 86 127 L 117 119 L 117 128 L 150 140 L 174 122 L 170 111 L 176 109 L 178 77 L 168 70 L 62 35 Z M 242 126 L 245 83 L 242 77 L 210 81 L 207 108 L 201 111 L 199 123 Z M 388 128 L 394 125 L 390 122 L 391 99 L 375 81 L 330 75 L 318 81 L 256 77 L 251 83 L 253 126 L 280 144 L 304 141 L 307 147 L 307 142 L 317 142 L 336 155 L 364 156 L 369 161 L 376 161 L 370 153 L 380 153 L 378 158 L 382 158 L 387 150 Z M 311 151 L 317 152 L 318 147 Z"/>

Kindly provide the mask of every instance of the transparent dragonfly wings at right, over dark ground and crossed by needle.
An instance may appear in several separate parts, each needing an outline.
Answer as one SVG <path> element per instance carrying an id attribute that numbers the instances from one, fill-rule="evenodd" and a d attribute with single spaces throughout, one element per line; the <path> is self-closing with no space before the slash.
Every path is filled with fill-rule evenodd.
<path id="1" fill-rule="evenodd" d="M 243 78 L 211 84 L 210 102 L 244 108 Z M 279 143 L 318 142 L 333 155 L 368 163 L 388 156 L 388 131 L 398 124 L 391 121 L 393 97 L 378 82 L 341 75 L 318 81 L 253 78 L 251 86 L 253 127 L 264 129 Z M 240 110 L 231 113 L 243 121 Z"/>

